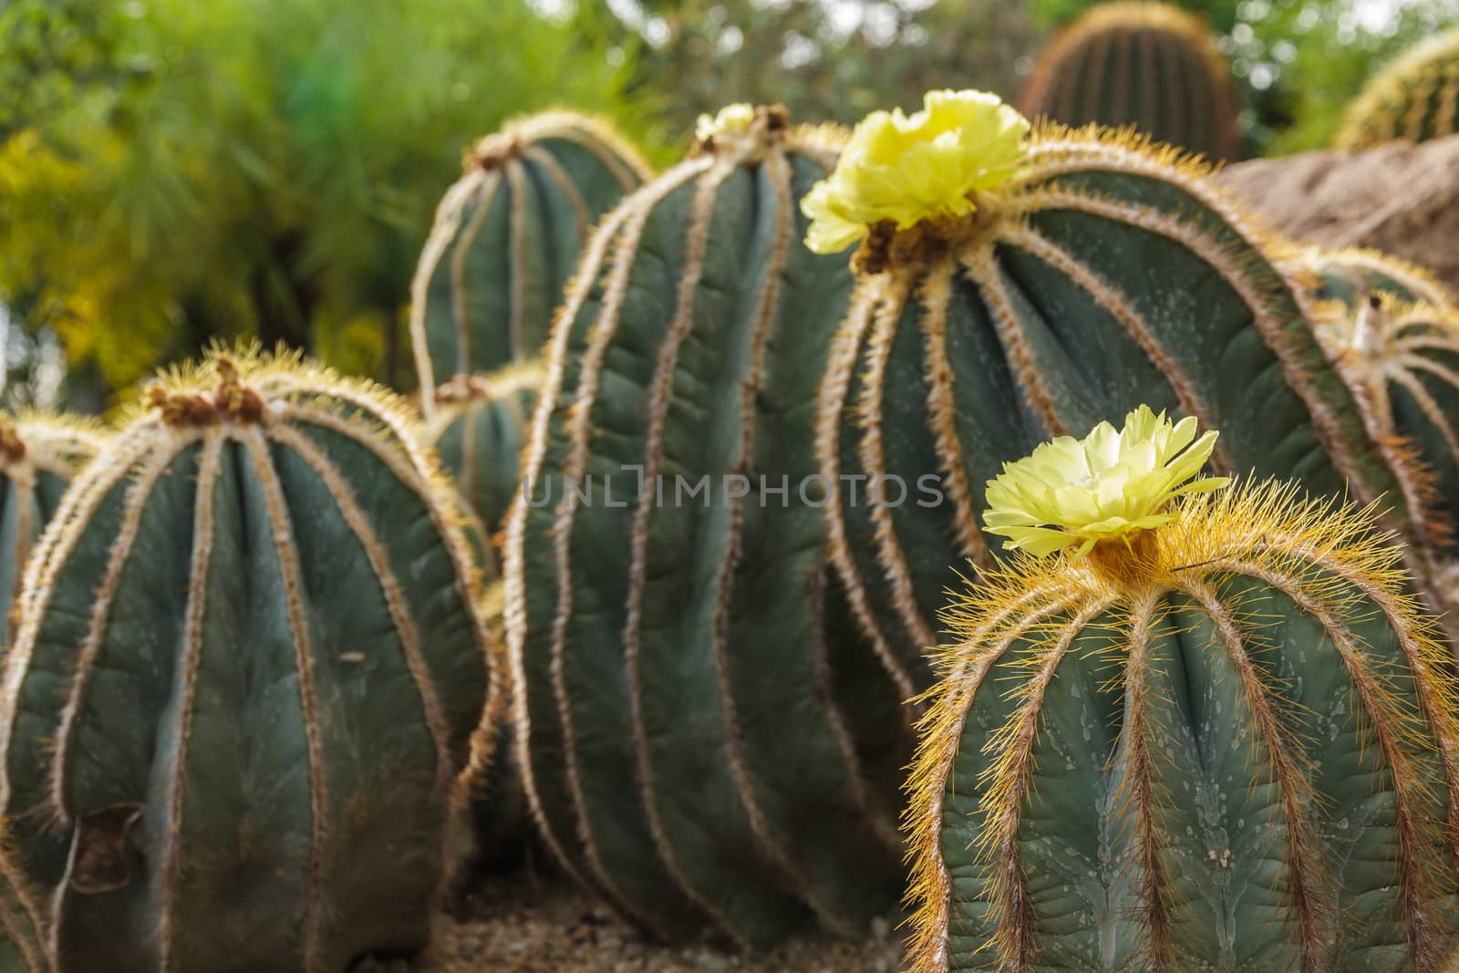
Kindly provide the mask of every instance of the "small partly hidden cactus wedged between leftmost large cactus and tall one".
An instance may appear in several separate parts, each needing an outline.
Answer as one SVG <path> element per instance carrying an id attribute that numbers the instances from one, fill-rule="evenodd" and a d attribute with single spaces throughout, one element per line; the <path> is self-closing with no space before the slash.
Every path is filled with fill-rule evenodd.
<path id="1" fill-rule="evenodd" d="M 525 365 L 436 389 L 426 438 L 487 532 L 502 525 L 521 486 L 518 457 L 540 385 L 541 366 Z"/>

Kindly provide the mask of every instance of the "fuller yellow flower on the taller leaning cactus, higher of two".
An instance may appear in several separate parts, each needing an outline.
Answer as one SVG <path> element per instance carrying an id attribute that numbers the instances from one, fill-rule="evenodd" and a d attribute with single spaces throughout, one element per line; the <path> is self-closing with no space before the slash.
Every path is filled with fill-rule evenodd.
<path id="1" fill-rule="evenodd" d="M 1018 174 L 1029 121 L 988 92 L 928 92 L 922 111 L 874 111 L 846 143 L 829 179 L 801 201 L 805 245 L 846 249 L 874 223 L 906 229 L 932 216 L 972 213 L 976 193 Z"/>

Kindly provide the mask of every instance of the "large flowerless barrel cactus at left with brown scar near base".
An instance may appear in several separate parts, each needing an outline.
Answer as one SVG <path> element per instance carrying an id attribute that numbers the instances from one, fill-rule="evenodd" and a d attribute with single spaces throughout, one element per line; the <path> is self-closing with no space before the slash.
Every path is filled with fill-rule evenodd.
<path id="1" fill-rule="evenodd" d="M 44 969 L 417 951 L 490 753 L 458 500 L 395 401 L 298 360 L 146 403 L 61 500 L 4 661 L 0 864 Z"/>

